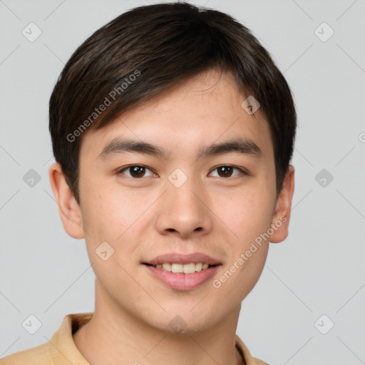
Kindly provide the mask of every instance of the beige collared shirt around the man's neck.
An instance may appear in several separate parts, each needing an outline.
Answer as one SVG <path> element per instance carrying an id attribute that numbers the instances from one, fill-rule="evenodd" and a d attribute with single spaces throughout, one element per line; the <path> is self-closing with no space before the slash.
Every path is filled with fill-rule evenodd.
<path id="1" fill-rule="evenodd" d="M 75 346 L 72 334 L 86 324 L 91 317 L 93 313 L 66 315 L 61 327 L 53 334 L 50 341 L 6 356 L 0 359 L 0 365 L 90 365 Z M 236 347 L 247 365 L 267 365 L 264 361 L 251 356 L 237 334 Z"/>

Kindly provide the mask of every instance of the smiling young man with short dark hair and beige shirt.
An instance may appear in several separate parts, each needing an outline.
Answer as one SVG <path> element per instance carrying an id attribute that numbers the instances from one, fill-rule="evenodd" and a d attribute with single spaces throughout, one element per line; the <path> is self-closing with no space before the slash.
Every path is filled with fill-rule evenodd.
<path id="1" fill-rule="evenodd" d="M 235 331 L 287 237 L 296 113 L 250 31 L 190 4 L 132 9 L 73 53 L 49 127 L 95 311 L 0 364 L 265 364 Z"/>

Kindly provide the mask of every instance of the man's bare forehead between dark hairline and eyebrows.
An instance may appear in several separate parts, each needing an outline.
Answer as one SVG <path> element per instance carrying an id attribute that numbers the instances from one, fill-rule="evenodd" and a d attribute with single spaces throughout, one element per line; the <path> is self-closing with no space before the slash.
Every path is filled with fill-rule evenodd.
<path id="1" fill-rule="evenodd" d="M 269 125 L 258 109 L 247 113 L 231 73 L 205 71 L 181 81 L 155 98 L 83 136 L 81 155 L 96 158 L 115 137 L 143 140 L 174 157 L 196 154 L 202 146 L 232 138 L 254 141 L 272 152 Z"/>

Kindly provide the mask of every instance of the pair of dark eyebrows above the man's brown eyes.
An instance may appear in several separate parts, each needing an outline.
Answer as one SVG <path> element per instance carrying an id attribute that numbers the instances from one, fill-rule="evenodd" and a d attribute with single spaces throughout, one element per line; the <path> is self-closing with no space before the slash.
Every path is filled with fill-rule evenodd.
<path id="1" fill-rule="evenodd" d="M 170 153 L 167 150 L 163 150 L 157 145 L 140 140 L 115 137 L 103 148 L 102 152 L 98 155 L 98 158 L 106 160 L 111 155 L 125 152 L 157 156 L 164 160 L 168 160 L 170 156 Z M 255 158 L 262 157 L 262 150 L 253 140 L 235 138 L 234 140 L 227 140 L 222 143 L 212 143 L 212 145 L 200 148 L 197 152 L 197 158 L 208 158 L 215 155 L 223 155 L 225 153 L 241 153 L 243 155 L 251 155 Z"/>

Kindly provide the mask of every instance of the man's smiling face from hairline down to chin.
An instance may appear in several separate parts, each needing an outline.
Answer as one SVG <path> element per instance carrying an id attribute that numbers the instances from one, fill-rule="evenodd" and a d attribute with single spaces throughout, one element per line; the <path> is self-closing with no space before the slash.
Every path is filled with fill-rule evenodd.
<path id="1" fill-rule="evenodd" d="M 245 98 L 230 73 L 207 71 L 83 136 L 82 229 L 64 226 L 85 237 L 99 294 L 155 329 L 237 313 L 269 235 L 287 235 L 292 185 L 276 199 L 269 125 Z"/>

